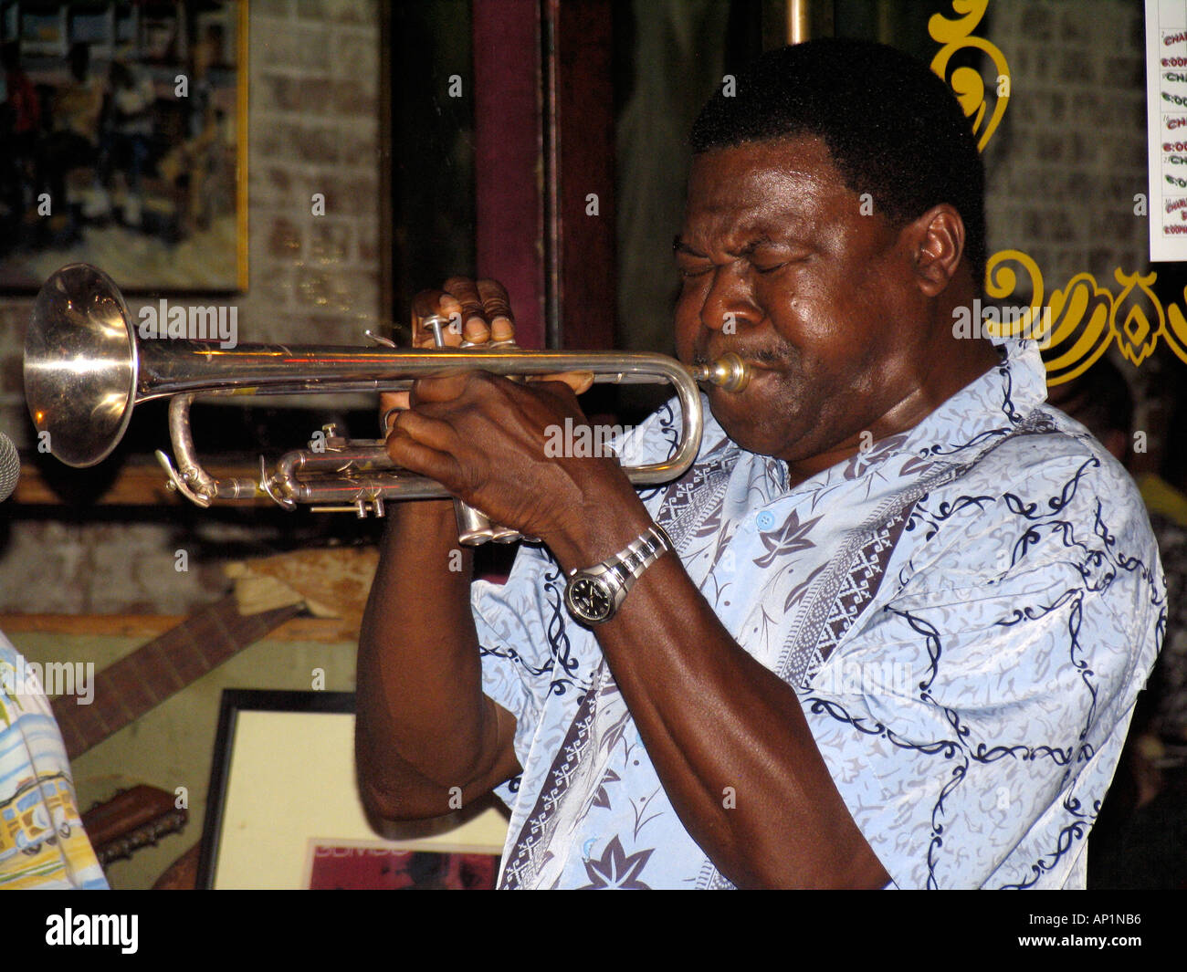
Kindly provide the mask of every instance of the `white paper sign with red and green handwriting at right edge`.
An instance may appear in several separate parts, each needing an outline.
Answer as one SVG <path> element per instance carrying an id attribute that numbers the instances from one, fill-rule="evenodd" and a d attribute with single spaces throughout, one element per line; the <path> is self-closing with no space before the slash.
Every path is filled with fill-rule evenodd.
<path id="1" fill-rule="evenodd" d="M 1187 260 L 1187 0 L 1145 0 L 1145 126 L 1150 260 Z"/>

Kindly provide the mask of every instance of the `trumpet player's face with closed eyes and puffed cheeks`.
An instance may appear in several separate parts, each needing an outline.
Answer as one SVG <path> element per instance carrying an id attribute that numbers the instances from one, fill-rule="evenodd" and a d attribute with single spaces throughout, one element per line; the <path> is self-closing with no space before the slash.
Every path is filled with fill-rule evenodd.
<path id="1" fill-rule="evenodd" d="M 807 463 L 824 469 L 863 431 L 881 437 L 878 420 L 935 363 L 907 237 L 862 205 L 817 138 L 693 159 L 677 350 L 686 362 L 732 350 L 750 363 L 745 390 L 709 393 L 731 439 L 791 462 L 824 457 Z"/>

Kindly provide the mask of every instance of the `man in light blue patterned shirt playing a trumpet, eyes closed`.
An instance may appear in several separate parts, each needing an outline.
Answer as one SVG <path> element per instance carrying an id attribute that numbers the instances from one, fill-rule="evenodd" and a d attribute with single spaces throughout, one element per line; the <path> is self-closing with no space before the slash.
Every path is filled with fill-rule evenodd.
<path id="1" fill-rule="evenodd" d="M 643 494 L 612 457 L 545 456 L 579 376 L 415 383 L 391 456 L 541 545 L 471 589 L 450 502 L 389 508 L 364 802 L 495 789 L 508 888 L 1083 887 L 1164 589 L 1033 343 L 953 335 L 985 261 L 967 120 L 904 55 L 810 42 L 692 142 L 677 350 L 750 382 L 707 390 L 696 464 Z M 514 328 L 493 281 L 414 312 Z M 623 462 L 678 427 L 660 409 Z"/>

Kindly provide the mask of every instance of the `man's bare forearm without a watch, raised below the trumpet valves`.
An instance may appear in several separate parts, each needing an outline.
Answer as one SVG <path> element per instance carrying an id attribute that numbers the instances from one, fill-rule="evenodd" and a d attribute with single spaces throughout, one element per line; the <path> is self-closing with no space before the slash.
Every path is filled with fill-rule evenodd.
<path id="1" fill-rule="evenodd" d="M 358 642 L 356 755 L 386 818 L 442 815 L 516 770 L 514 718 L 482 693 L 472 555 L 452 503 L 393 503 Z"/>

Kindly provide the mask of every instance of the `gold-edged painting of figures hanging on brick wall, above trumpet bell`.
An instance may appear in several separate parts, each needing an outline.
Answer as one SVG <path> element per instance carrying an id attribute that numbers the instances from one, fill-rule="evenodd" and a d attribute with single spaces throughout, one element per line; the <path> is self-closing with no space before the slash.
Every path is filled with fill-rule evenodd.
<path id="1" fill-rule="evenodd" d="M 246 290 L 247 7 L 0 0 L 0 290 Z"/>

